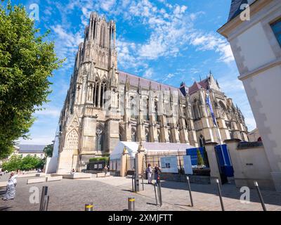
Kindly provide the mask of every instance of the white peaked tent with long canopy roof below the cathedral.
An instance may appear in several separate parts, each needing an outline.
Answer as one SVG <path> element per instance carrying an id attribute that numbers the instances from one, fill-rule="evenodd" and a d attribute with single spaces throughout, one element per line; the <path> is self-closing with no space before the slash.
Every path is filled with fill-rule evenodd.
<path id="1" fill-rule="evenodd" d="M 119 141 L 115 149 L 110 154 L 110 160 L 119 160 L 123 153 L 124 147 L 128 150 L 129 155 L 135 157 L 138 152 L 139 142 Z M 186 150 L 188 148 L 195 148 L 186 143 L 158 143 L 158 142 L 143 142 L 145 153 L 164 152 L 164 151 L 178 151 Z"/>

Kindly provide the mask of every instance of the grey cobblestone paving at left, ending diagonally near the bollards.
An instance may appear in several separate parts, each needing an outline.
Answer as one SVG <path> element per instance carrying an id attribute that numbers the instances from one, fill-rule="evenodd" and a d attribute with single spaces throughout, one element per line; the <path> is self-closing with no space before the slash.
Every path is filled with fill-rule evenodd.
<path id="1" fill-rule="evenodd" d="M 93 203 L 94 210 L 122 211 L 128 209 L 128 198 L 136 198 L 136 210 L 184 210 L 176 205 L 164 204 L 162 207 L 155 205 L 155 200 L 145 195 L 131 193 L 128 188 L 123 189 L 117 182 L 118 178 L 111 177 L 111 184 L 100 182 L 101 179 L 63 179 L 39 184 L 26 184 L 27 179 L 18 179 L 16 196 L 14 200 L 4 201 L 2 197 L 5 188 L 0 188 L 0 210 L 38 211 L 39 204 L 30 204 L 30 187 L 48 186 L 50 201 L 48 210 L 54 211 L 79 211 L 84 210 L 85 203 Z M 2 181 L 2 180 L 1 180 Z M 124 179 L 120 184 L 128 186 L 130 179 Z"/>

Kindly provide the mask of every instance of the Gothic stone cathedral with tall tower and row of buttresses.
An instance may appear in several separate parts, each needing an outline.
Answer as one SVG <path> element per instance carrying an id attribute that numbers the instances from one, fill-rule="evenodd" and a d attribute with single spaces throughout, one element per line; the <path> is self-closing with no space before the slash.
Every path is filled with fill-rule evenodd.
<path id="1" fill-rule="evenodd" d="M 108 155 L 119 141 L 204 146 L 209 141 L 248 140 L 240 109 L 211 72 L 192 86 L 181 83 L 176 88 L 118 70 L 115 22 L 97 13 L 91 13 L 79 44 L 59 125 L 60 174 Z"/>

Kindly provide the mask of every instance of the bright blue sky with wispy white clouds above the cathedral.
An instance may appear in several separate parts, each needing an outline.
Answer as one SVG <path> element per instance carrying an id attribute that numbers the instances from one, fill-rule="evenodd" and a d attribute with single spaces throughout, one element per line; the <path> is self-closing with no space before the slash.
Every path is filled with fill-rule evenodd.
<path id="1" fill-rule="evenodd" d="M 256 127 L 251 108 L 228 41 L 216 33 L 228 18 L 230 0 L 32 0 L 20 2 L 30 12 L 39 6 L 36 27 L 51 30 L 48 40 L 55 51 L 67 58 L 63 68 L 51 78 L 51 101 L 37 117 L 30 136 L 21 143 L 51 143 L 60 109 L 67 94 L 74 56 L 84 38 L 89 13 L 97 11 L 117 23 L 118 68 L 158 82 L 190 85 L 209 70 L 221 89 L 241 108 L 249 130 Z"/>

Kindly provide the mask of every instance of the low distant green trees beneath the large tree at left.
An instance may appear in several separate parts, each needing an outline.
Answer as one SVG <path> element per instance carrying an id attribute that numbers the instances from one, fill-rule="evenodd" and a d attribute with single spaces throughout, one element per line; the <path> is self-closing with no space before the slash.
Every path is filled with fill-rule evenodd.
<path id="1" fill-rule="evenodd" d="M 27 155 L 22 158 L 20 155 L 12 155 L 10 160 L 3 162 L 2 168 L 4 170 L 16 171 L 20 170 L 30 170 L 30 169 L 43 169 L 45 164 L 44 159 L 40 159 L 37 156 Z"/>

